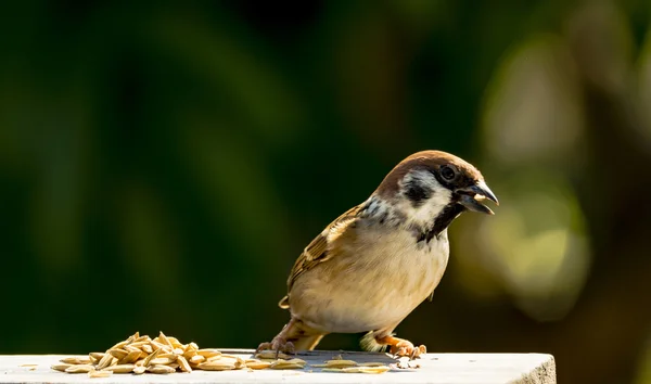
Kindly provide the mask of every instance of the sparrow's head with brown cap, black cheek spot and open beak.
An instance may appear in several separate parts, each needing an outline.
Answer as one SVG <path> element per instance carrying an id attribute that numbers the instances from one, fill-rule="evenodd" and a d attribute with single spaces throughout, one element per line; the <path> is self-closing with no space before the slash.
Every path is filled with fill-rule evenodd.
<path id="1" fill-rule="evenodd" d="M 499 205 L 482 174 L 470 163 L 442 151 L 422 151 L 401 161 L 373 193 L 410 226 L 443 229 L 463 210 L 493 215 L 482 203 Z"/>

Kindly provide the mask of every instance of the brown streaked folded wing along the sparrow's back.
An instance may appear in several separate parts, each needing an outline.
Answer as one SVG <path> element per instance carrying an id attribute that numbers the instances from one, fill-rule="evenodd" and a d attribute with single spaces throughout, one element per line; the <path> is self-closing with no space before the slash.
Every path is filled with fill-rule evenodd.
<path id="1" fill-rule="evenodd" d="M 353 225 L 357 218 L 359 217 L 359 212 L 361 210 L 361 205 L 357 205 L 342 216 L 337 217 L 334 221 L 332 221 L 326 229 L 315 238 L 306 247 L 303 249 L 303 253 L 294 263 L 294 267 L 290 272 L 290 278 L 288 279 L 288 291 L 292 290 L 292 285 L 296 281 L 296 279 L 303 274 L 303 272 L 310 270 L 315 266 L 331 259 L 334 254 L 329 251 L 329 238 L 332 239 L 331 234 L 336 232 L 337 234 L 343 234 L 349 228 L 353 228 Z M 339 238 L 339 236 L 337 236 Z M 278 304 L 281 308 L 289 308 L 289 297 L 284 296 L 280 303 Z"/>

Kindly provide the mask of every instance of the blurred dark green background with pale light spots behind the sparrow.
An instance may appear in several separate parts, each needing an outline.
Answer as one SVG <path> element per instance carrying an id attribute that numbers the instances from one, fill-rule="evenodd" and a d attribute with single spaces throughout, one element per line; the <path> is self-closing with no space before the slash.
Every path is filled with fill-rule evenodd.
<path id="1" fill-rule="evenodd" d="M 501 206 L 452 223 L 398 334 L 651 383 L 650 20 L 646 0 L 4 2 L 0 353 L 269 341 L 303 247 L 439 149 Z"/>

